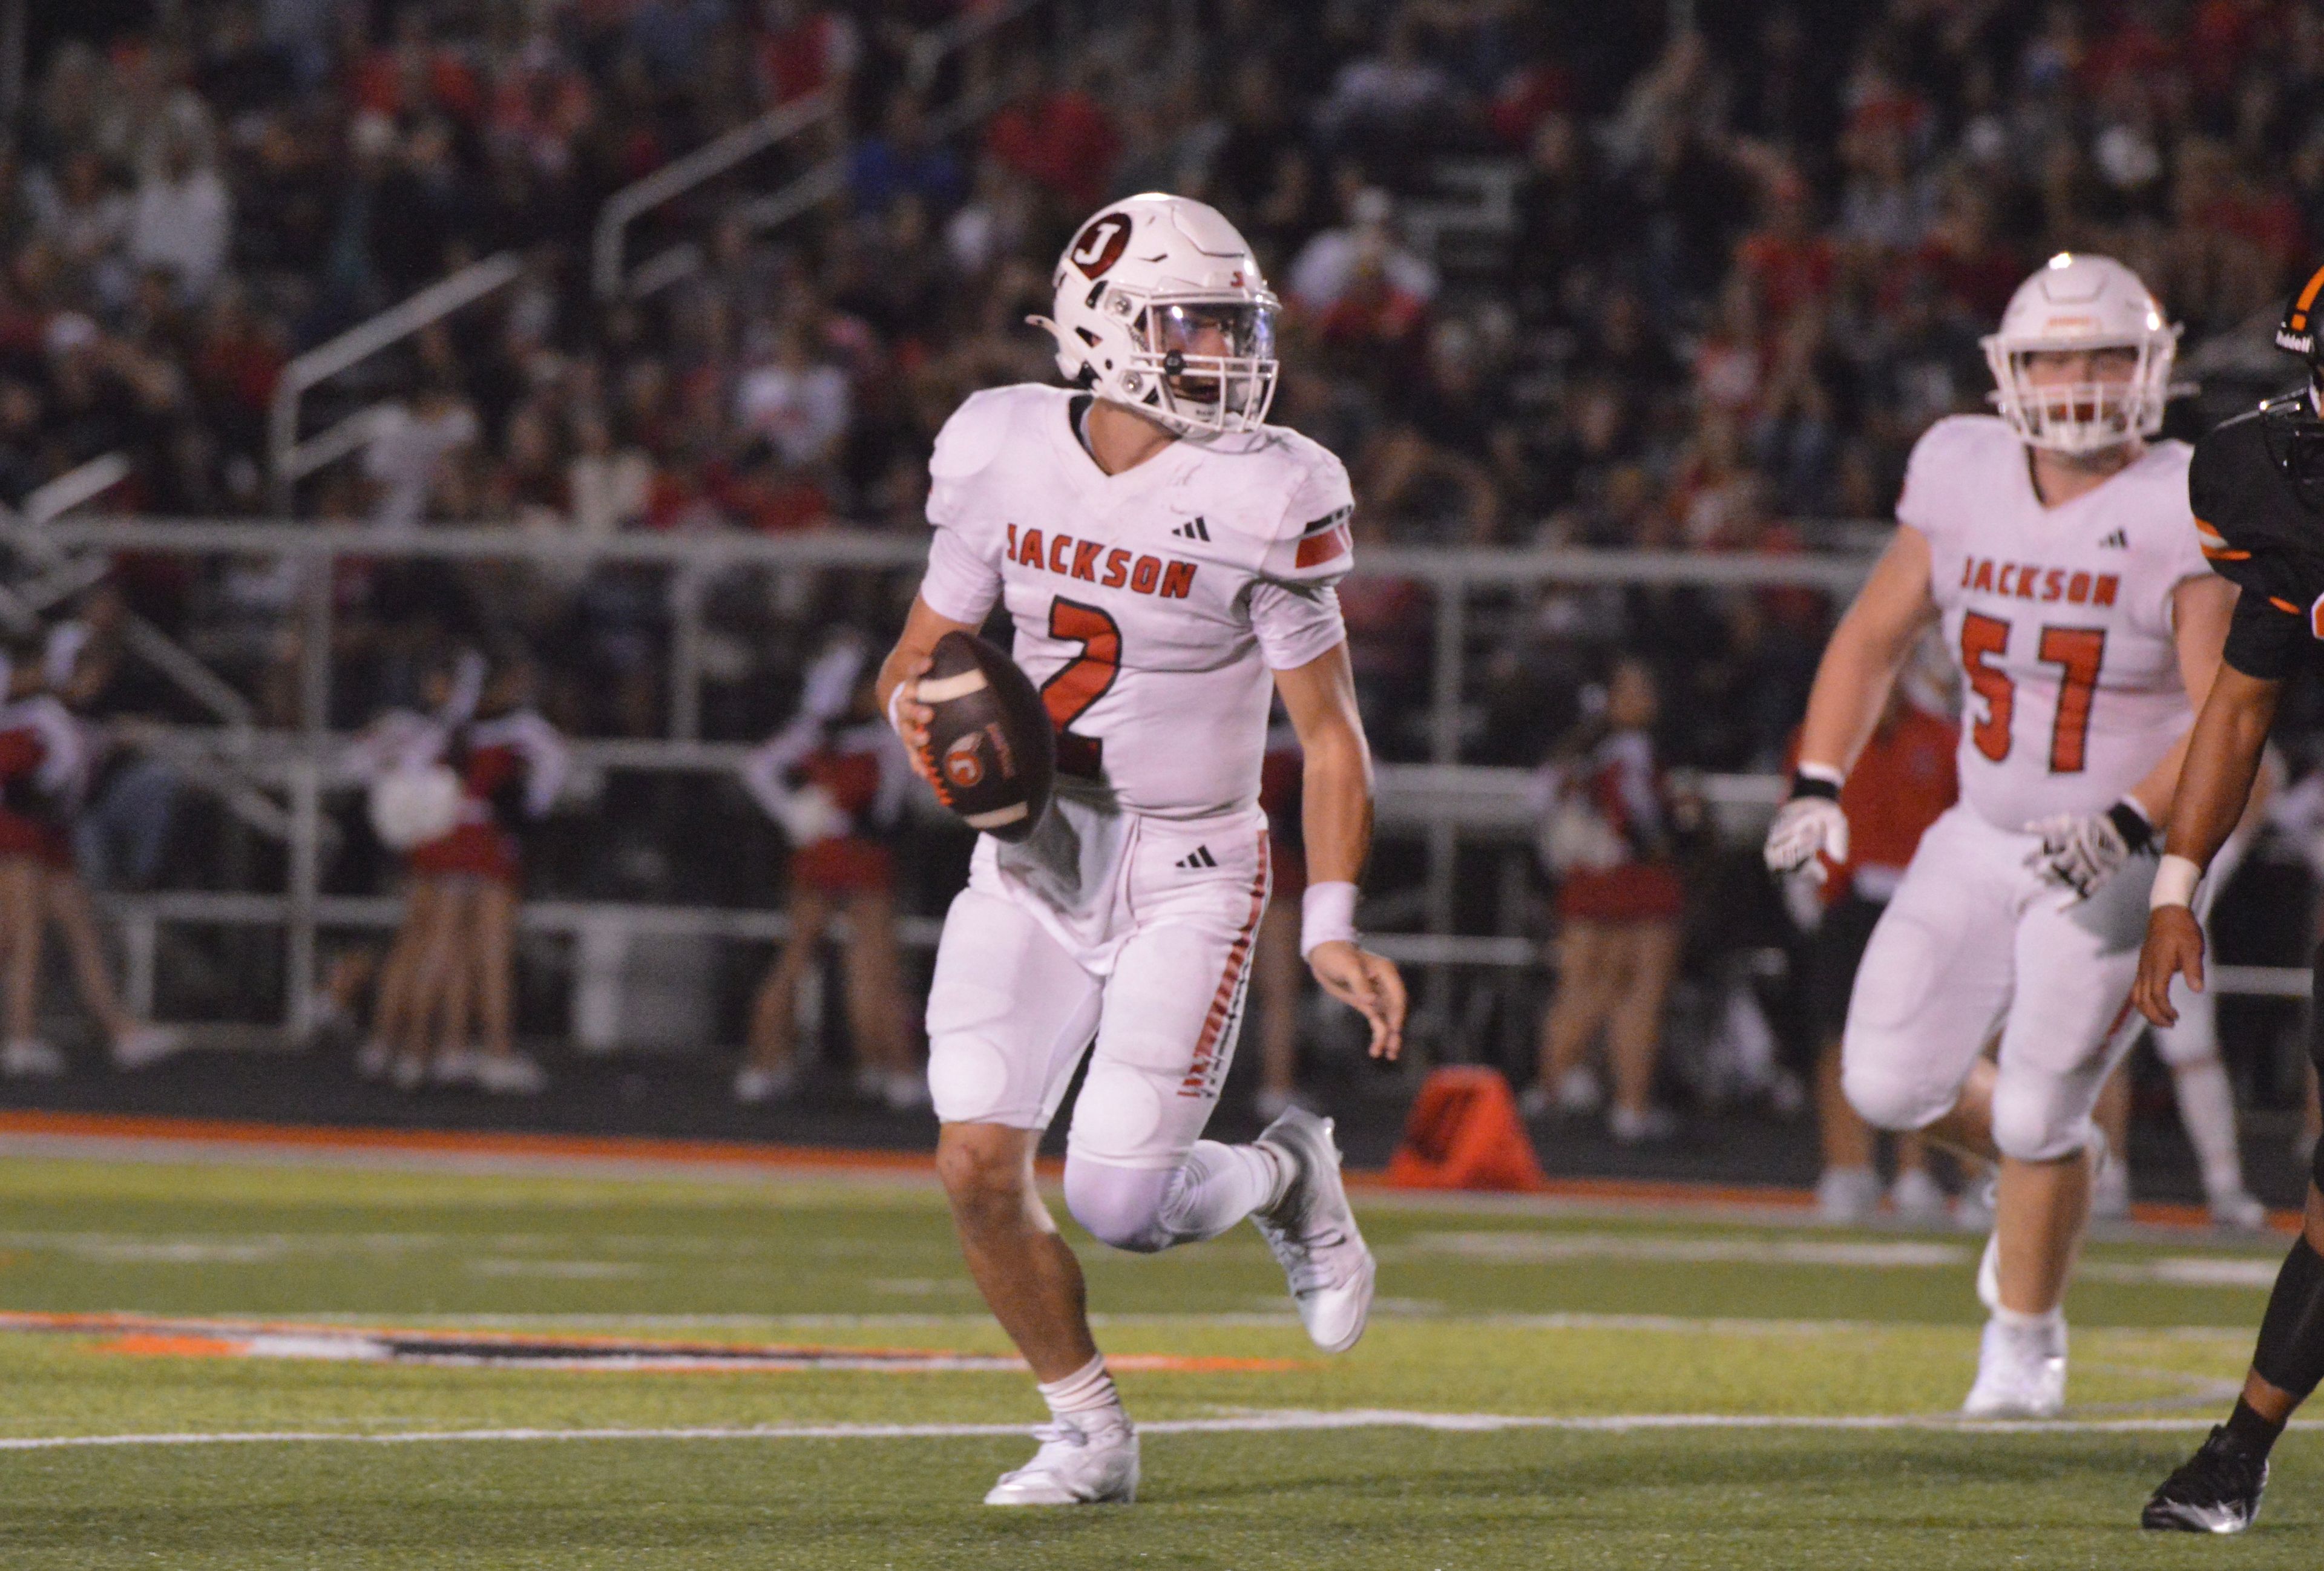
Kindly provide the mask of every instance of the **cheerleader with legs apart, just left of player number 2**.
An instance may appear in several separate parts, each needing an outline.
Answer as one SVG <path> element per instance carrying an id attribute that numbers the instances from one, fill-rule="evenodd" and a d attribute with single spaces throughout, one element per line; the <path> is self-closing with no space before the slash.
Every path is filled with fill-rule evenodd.
<path id="1" fill-rule="evenodd" d="M 790 839 L 790 941 L 751 1009 L 751 1053 L 734 1076 L 739 1102 L 769 1102 L 795 1085 L 792 1006 L 834 913 L 848 923 L 855 1083 L 892 1109 L 927 1102 L 904 1018 L 895 865 L 881 841 L 904 811 L 911 765 L 878 711 L 871 676 L 862 639 L 844 634 L 806 672 L 799 713 L 741 767 L 748 792 Z"/>

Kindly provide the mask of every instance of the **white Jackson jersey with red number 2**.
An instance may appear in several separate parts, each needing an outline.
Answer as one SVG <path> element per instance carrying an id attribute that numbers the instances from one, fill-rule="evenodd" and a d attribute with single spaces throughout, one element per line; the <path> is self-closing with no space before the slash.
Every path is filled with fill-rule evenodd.
<path id="1" fill-rule="evenodd" d="M 969 397 L 927 462 L 920 597 L 978 625 L 995 600 L 1057 725 L 1057 792 L 1102 811 L 1253 809 L 1269 672 L 1343 637 L 1353 495 L 1299 432 L 1171 442 L 1106 474 L 1071 388 Z"/>

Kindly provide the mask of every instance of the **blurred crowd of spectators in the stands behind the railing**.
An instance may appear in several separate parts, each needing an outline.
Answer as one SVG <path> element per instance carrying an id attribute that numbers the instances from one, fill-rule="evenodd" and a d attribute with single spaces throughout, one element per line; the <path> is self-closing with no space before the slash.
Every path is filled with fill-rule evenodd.
<path id="1" fill-rule="evenodd" d="M 300 518 L 909 537 L 951 409 L 1053 376 L 1023 318 L 1076 223 L 1167 188 L 1227 211 L 1283 295 L 1274 418 L 1348 460 L 1360 565 L 1787 553 L 1862 544 L 1829 521 L 1882 518 L 1913 439 L 1982 407 L 1978 337 L 2047 253 L 2122 258 L 2194 349 L 2273 314 L 2324 244 L 2301 0 L 1053 0 L 930 53 L 1006 9 L 44 14 L 0 139 L 0 502 L 125 453 L 105 509 L 274 516 L 286 363 L 514 251 L 514 288 L 311 400 L 309 435 L 393 409 Z M 632 267 L 695 242 L 690 272 L 595 293 L 611 193 L 811 93 L 830 121 L 637 225 Z M 797 221 L 737 207 L 823 160 L 844 179 Z M 1485 216 L 1448 225 L 1462 200 Z M 295 720 L 295 569 L 132 558 L 119 583 Z M 702 732 L 765 737 L 827 627 L 878 637 L 909 588 L 706 586 Z M 332 720 L 414 704 L 432 651 L 472 641 L 530 651 L 569 734 L 660 734 L 672 593 L 658 567 L 351 567 Z M 1429 586 L 1360 569 L 1341 597 L 1376 746 L 1425 758 Z M 1829 616 L 1808 590 L 1478 595 L 1462 758 L 1541 762 L 1622 651 L 1659 683 L 1664 765 L 1773 769 Z"/>

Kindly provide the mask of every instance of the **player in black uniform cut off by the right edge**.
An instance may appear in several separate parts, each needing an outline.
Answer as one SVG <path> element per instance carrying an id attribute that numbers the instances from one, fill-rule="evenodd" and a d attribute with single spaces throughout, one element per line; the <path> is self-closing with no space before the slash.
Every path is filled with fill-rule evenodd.
<path id="1" fill-rule="evenodd" d="M 2203 437 L 2187 488 L 2203 553 L 2243 590 L 2219 681 L 2194 727 L 2187 776 L 2171 804 L 2171 855 L 2154 876 L 2147 946 L 2138 957 L 2140 1013 L 2178 1020 L 2171 983 L 2203 988 L 2203 874 L 2236 830 L 2275 720 L 2275 700 L 2324 637 L 2324 353 L 2315 314 L 2324 270 L 2294 295 L 2275 344 L 2308 360 L 2308 388 L 2236 416 Z M 2324 985 L 2324 948 L 2317 951 Z M 2324 1064 L 2324 1025 L 2310 1011 L 2308 1055 Z M 2259 1320 L 2243 1397 L 2201 1450 L 2154 1490 L 2140 1522 L 2196 1534 L 2240 1534 L 2259 1515 L 2268 1450 L 2291 1411 L 2324 1380 L 2324 1146 L 2308 1178 L 2308 1215 Z"/>

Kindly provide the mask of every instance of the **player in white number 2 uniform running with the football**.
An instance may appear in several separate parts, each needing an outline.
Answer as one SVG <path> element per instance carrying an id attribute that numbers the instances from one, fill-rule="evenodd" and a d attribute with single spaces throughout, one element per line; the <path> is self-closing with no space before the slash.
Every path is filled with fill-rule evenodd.
<path id="1" fill-rule="evenodd" d="M 1371 1023 L 1373 1057 L 1404 1032 L 1397 967 L 1355 934 L 1371 755 L 1332 588 L 1353 497 L 1332 453 L 1264 423 L 1276 297 L 1234 225 L 1174 195 L 1090 218 L 1055 286 L 1055 321 L 1034 321 L 1071 386 L 992 388 L 946 421 L 927 576 L 881 669 L 927 774 L 930 651 L 1006 604 L 1057 730 L 1055 799 L 1025 841 L 978 841 L 927 995 L 937 1171 L 969 1274 L 1050 1406 L 992 1506 L 1127 1501 L 1139 1483 L 1081 1267 L 1032 1176 L 1083 1055 L 1064 1155 L 1083 1227 L 1150 1253 L 1248 1215 L 1318 1346 L 1364 1329 L 1373 1262 L 1332 1125 L 1292 1109 L 1257 1143 L 1202 1139 L 1267 909 L 1276 693 L 1306 753 L 1299 951 Z"/>

